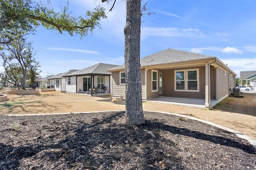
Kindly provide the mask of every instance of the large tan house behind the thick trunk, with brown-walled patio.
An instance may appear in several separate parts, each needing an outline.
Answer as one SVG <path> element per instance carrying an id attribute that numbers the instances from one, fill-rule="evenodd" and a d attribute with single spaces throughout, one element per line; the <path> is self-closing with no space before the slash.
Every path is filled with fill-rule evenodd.
<path id="1" fill-rule="evenodd" d="M 212 108 L 235 88 L 236 74 L 217 57 L 166 49 L 140 59 L 142 100 L 160 96 L 205 99 Z M 112 72 L 112 96 L 125 96 L 124 65 Z"/>

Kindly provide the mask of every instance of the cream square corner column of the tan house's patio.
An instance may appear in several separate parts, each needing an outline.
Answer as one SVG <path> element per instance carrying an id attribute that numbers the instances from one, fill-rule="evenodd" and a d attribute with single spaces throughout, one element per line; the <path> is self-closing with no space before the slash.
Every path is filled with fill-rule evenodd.
<path id="1" fill-rule="evenodd" d="M 210 109 L 211 106 L 210 92 L 210 64 L 205 63 L 205 103 L 204 106 Z"/>

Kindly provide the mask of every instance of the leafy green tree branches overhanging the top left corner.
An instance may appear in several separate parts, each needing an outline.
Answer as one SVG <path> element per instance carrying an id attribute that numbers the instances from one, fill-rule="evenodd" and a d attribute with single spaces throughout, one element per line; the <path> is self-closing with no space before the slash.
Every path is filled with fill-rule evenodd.
<path id="1" fill-rule="evenodd" d="M 60 12 L 54 12 L 50 1 L 33 0 L 0 0 L 0 42 L 10 43 L 23 35 L 34 33 L 39 25 L 47 29 L 64 31 L 70 35 L 80 35 L 81 38 L 88 31 L 100 27 L 100 19 L 106 18 L 104 8 L 96 6 L 85 16 L 74 17 L 67 6 Z"/>

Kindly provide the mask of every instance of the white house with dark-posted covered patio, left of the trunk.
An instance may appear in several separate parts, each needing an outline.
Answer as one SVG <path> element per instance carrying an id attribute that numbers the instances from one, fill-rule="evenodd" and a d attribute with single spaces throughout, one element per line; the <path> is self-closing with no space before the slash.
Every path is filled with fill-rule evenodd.
<path id="1" fill-rule="evenodd" d="M 91 87 L 96 87 L 99 92 L 110 93 L 111 73 L 106 71 L 117 65 L 98 63 L 82 70 L 64 75 L 66 78 L 66 92 L 86 93 Z"/>

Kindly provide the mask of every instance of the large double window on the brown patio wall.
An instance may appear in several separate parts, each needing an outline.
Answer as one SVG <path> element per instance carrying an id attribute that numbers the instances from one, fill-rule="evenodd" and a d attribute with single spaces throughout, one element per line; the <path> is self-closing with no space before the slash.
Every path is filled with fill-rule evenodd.
<path id="1" fill-rule="evenodd" d="M 176 70 L 175 91 L 199 92 L 199 70 Z"/>

